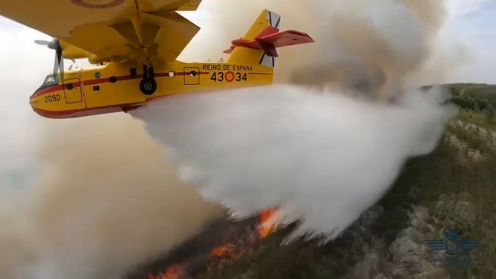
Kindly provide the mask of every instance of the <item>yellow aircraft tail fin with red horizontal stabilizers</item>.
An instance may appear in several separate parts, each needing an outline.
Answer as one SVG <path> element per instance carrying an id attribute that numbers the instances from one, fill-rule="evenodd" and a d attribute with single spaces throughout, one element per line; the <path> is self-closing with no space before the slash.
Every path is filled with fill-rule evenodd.
<path id="1" fill-rule="evenodd" d="M 291 45 L 311 43 L 309 35 L 289 30 L 279 32 L 281 16 L 277 13 L 264 10 L 248 29 L 241 39 L 234 40 L 229 50 L 224 53 L 231 54 L 227 63 L 254 64 L 274 67 L 276 48 Z"/>

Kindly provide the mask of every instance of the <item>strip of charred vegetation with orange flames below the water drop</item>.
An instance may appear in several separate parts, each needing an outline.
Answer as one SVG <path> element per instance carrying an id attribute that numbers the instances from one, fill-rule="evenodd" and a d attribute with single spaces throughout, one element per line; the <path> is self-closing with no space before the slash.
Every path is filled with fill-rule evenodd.
<path id="1" fill-rule="evenodd" d="M 212 267 L 239 259 L 248 254 L 276 230 L 272 217 L 277 209 L 266 209 L 241 221 L 226 220 L 212 223 L 203 232 L 180 247 L 159 257 L 151 264 L 139 267 L 127 279 L 208 278 Z"/>

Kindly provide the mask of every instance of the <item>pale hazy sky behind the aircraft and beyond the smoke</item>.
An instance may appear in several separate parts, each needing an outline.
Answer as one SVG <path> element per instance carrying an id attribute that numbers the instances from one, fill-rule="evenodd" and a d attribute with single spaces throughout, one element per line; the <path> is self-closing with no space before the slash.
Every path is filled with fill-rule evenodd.
<path id="1" fill-rule="evenodd" d="M 206 2 L 206 1 L 205 1 Z M 193 22 L 203 27 L 182 57 L 206 59 L 199 56 L 195 48 L 210 38 L 209 12 L 202 9 L 188 13 Z M 450 0 L 449 18 L 441 31 L 442 44 L 437 53 L 453 56 L 463 50 L 464 66 L 451 69 L 449 81 L 474 81 L 496 83 L 496 1 L 494 0 Z M 245 30 L 240 30 L 240 35 Z M 53 67 L 54 52 L 35 45 L 33 40 L 50 37 L 21 24 L 0 17 L 0 185 L 22 184 L 19 180 L 26 166 L 32 163 L 32 152 L 36 146 L 39 127 L 49 120 L 37 116 L 29 107 L 28 98 L 41 84 Z M 233 38 L 234 39 L 234 38 Z M 208 42 L 207 40 L 207 42 Z M 221 44 L 224 48 L 229 42 Z M 218 49 L 222 56 L 224 48 Z M 455 56 L 456 57 L 456 56 Z M 467 59 L 468 57 L 468 59 Z M 70 63 L 66 63 L 70 64 Z M 78 62 L 78 64 L 86 64 Z M 1 190 L 1 187 L 0 187 Z M 1 193 L 0 193 L 1 194 Z"/>

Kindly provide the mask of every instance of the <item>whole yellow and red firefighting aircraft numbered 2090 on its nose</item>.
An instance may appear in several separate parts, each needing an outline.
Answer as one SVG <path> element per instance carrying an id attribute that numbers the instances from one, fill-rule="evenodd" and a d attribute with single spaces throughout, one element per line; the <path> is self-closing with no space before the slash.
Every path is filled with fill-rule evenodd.
<path id="1" fill-rule="evenodd" d="M 186 92 L 272 83 L 276 48 L 313 40 L 280 32 L 280 15 L 264 10 L 234 40 L 226 63 L 177 61 L 199 27 L 177 11 L 201 0 L 2 0 L 0 14 L 54 37 L 35 41 L 55 50 L 54 72 L 30 98 L 35 112 L 70 118 L 127 112 Z M 63 58 L 95 68 L 63 72 Z M 60 69 L 60 71 L 59 71 Z"/>

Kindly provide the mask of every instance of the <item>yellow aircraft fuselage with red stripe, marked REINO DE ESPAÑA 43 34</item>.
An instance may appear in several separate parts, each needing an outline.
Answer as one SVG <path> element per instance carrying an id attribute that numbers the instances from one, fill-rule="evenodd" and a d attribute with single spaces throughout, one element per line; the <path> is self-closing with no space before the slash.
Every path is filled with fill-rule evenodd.
<path id="1" fill-rule="evenodd" d="M 156 90 L 140 89 L 145 69 L 136 62 L 108 63 L 101 67 L 48 76 L 30 97 L 33 110 L 49 118 L 73 118 L 126 112 L 147 102 L 177 94 L 268 85 L 273 68 L 228 63 L 175 61 L 153 68 Z M 146 87 L 146 86 L 145 86 Z"/>

